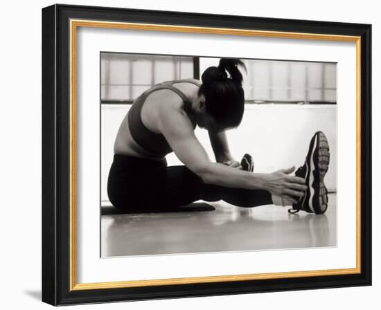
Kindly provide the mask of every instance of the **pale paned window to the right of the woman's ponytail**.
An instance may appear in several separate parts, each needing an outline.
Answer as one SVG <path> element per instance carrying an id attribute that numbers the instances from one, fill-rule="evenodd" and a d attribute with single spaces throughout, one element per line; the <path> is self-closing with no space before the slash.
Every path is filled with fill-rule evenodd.
<path id="1" fill-rule="evenodd" d="M 244 60 L 249 102 L 336 103 L 336 64 Z"/>

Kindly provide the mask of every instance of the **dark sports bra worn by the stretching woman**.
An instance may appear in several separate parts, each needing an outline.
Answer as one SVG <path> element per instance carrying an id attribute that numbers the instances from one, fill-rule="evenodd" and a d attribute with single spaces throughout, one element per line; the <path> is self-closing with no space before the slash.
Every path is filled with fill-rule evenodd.
<path id="1" fill-rule="evenodd" d="M 195 82 L 194 80 L 190 79 L 161 82 L 139 95 L 139 97 L 134 100 L 132 107 L 128 111 L 128 127 L 130 129 L 132 138 L 138 145 L 140 145 L 140 147 L 150 152 L 154 156 L 164 157 L 166 154 L 172 152 L 172 149 L 163 134 L 157 134 L 145 127 L 141 121 L 141 109 L 145 102 L 145 98 L 147 98 L 148 95 L 152 93 L 152 91 L 157 91 L 158 89 L 170 89 L 175 91 L 175 93 L 181 97 L 184 102 L 184 109 L 189 111 L 191 104 L 190 100 L 182 91 L 177 89 L 175 86 L 172 86 L 172 84 L 179 82 L 190 82 L 197 86 L 201 85 L 200 82 Z"/>

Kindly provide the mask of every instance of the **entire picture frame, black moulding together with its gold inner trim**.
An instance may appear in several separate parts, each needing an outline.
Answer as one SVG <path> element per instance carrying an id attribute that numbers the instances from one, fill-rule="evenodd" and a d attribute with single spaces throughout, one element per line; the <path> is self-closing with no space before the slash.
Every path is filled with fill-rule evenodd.
<path id="1" fill-rule="evenodd" d="M 80 28 L 355 44 L 355 267 L 78 283 Z M 371 25 L 58 4 L 42 9 L 43 302 L 57 306 L 366 285 L 371 285 Z"/>

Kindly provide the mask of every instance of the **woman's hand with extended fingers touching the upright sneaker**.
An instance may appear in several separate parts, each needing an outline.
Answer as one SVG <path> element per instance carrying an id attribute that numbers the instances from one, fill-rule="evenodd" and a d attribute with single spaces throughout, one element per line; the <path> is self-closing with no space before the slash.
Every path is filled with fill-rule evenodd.
<path id="1" fill-rule="evenodd" d="M 288 175 L 294 170 L 295 166 L 292 166 L 267 174 L 265 179 L 266 190 L 278 196 L 303 197 L 307 186 L 303 178 Z"/>

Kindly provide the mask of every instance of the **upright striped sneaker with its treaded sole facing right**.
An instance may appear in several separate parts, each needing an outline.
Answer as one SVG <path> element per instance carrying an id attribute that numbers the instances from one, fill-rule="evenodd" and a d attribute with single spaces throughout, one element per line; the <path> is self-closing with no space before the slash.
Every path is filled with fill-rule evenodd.
<path id="1" fill-rule="evenodd" d="M 308 189 L 297 203 L 292 205 L 290 213 L 303 210 L 309 213 L 323 214 L 328 206 L 328 191 L 324 184 L 324 176 L 330 161 L 329 145 L 326 135 L 317 131 L 312 136 L 304 165 L 299 167 L 295 176 L 305 179 Z"/>

